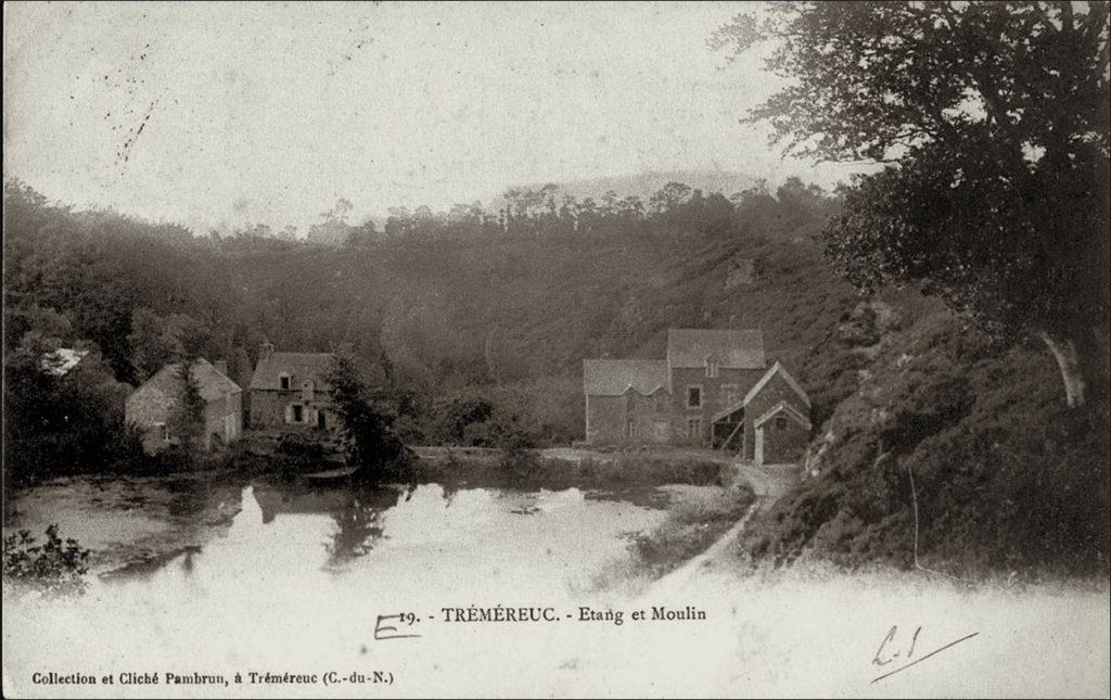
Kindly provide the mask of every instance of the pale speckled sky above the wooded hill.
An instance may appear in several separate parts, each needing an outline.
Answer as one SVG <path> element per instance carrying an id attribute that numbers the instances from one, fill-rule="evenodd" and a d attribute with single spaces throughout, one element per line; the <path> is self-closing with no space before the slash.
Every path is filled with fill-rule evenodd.
<path id="1" fill-rule="evenodd" d="M 830 186 L 745 110 L 782 83 L 707 38 L 744 3 L 6 3 L 3 170 L 198 232 L 340 197 L 489 201 L 662 170 Z"/>

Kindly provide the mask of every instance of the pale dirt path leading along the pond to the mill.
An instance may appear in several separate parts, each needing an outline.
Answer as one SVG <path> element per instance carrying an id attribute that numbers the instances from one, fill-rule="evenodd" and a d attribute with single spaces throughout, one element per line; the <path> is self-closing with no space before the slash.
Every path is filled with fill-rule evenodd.
<path id="1" fill-rule="evenodd" d="M 705 551 L 671 573 L 664 576 L 644 591 L 642 598 L 654 599 L 680 592 L 690 586 L 691 580 L 707 570 L 715 568 L 717 562 L 725 554 L 729 547 L 737 542 L 749 520 L 761 509 L 779 500 L 799 478 L 797 464 L 763 464 L 757 467 L 748 462 L 735 464 L 734 479 L 747 481 L 755 492 L 755 500 L 740 520 L 733 523 L 718 541 Z"/>

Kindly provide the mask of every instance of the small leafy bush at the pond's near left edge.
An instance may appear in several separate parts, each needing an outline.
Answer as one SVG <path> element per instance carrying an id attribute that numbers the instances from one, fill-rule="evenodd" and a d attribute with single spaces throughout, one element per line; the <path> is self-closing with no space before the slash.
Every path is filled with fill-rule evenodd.
<path id="1" fill-rule="evenodd" d="M 88 559 L 89 550 L 77 540 L 62 541 L 57 524 L 47 527 L 41 544 L 29 530 L 20 530 L 3 540 L 3 579 L 51 596 L 82 593 Z"/>

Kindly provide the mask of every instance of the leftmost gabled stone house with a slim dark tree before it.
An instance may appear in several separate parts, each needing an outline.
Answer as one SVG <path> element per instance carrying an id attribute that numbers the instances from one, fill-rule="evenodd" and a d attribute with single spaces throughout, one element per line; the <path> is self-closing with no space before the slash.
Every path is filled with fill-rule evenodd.
<path id="1" fill-rule="evenodd" d="M 124 401 L 123 418 L 142 431 L 143 450 L 149 454 L 181 441 L 171 428 L 183 391 L 179 368 L 167 364 Z M 204 359 L 192 364 L 190 376 L 204 400 L 204 429 L 198 447 L 208 452 L 238 440 L 243 433 L 242 389 Z"/>

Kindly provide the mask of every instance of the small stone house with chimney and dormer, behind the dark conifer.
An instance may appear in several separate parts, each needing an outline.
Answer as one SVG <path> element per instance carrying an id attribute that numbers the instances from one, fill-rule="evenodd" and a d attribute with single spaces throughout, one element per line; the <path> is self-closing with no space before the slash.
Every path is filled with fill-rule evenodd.
<path id="1" fill-rule="evenodd" d="M 336 413 L 324 381 L 330 352 L 274 352 L 262 346 L 251 376 L 251 428 L 332 429 Z"/>

